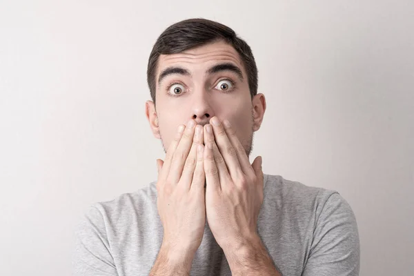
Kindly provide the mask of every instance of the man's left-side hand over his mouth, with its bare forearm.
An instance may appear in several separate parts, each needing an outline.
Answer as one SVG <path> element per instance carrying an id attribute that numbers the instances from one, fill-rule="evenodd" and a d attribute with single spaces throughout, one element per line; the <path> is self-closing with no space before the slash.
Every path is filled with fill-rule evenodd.
<path id="1" fill-rule="evenodd" d="M 189 274 L 206 225 L 203 127 L 194 120 L 180 127 L 165 161 L 157 159 L 157 207 L 164 239 L 150 275 L 164 268 Z"/>

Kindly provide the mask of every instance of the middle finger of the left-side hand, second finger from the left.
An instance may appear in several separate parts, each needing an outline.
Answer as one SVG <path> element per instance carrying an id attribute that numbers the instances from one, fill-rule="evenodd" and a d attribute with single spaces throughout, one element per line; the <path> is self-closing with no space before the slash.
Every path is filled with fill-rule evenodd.
<path id="1" fill-rule="evenodd" d="M 170 172 L 168 173 L 168 180 L 171 183 L 178 183 L 183 172 L 184 163 L 190 152 L 191 145 L 193 144 L 193 136 L 195 129 L 195 121 L 191 119 L 188 121 L 186 130 L 184 130 L 181 140 L 177 146 L 177 149 L 174 152 L 171 160 Z"/>

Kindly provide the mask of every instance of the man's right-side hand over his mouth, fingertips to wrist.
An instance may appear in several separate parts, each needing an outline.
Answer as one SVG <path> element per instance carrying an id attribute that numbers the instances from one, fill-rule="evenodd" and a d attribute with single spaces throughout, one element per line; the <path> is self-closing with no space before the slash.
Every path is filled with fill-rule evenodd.
<path id="1" fill-rule="evenodd" d="M 262 157 L 250 165 L 235 128 L 227 120 L 221 124 L 217 117 L 204 126 L 204 143 L 208 225 L 224 253 L 233 255 L 259 239 L 257 217 L 264 198 Z"/>

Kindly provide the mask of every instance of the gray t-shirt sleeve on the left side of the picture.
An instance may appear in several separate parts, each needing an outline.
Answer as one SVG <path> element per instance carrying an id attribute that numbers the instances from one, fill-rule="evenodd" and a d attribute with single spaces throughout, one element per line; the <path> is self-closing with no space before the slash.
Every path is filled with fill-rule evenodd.
<path id="1" fill-rule="evenodd" d="M 110 253 L 105 221 L 101 211 L 95 206 L 90 207 L 75 230 L 72 275 L 118 275 Z"/>

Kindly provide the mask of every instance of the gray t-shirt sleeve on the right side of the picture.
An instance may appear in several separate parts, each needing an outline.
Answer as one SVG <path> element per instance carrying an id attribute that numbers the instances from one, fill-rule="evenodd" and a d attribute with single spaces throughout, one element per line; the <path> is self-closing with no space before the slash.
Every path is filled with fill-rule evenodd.
<path id="1" fill-rule="evenodd" d="M 351 206 L 338 193 L 324 204 L 303 276 L 359 275 L 359 235 Z"/>

